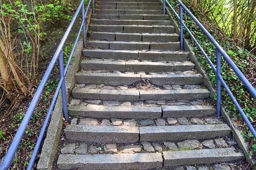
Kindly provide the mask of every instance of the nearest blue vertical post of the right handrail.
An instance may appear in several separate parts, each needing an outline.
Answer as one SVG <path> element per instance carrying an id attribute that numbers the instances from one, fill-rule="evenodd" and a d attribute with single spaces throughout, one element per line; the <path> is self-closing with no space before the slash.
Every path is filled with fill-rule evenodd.
<path id="1" fill-rule="evenodd" d="M 217 71 L 217 116 L 221 116 L 221 80 L 218 75 L 221 75 L 221 54 L 216 51 L 216 71 Z"/>

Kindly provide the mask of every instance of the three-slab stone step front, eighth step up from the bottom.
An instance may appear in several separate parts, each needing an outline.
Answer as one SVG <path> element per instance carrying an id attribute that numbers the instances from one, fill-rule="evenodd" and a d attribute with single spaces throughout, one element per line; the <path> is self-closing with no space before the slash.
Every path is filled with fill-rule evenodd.
<path id="1" fill-rule="evenodd" d="M 172 41 L 176 41 L 173 37 Z M 87 41 L 87 45 L 92 48 L 105 48 L 111 50 L 164 50 L 178 51 L 180 42 L 125 42 L 125 41 Z"/>

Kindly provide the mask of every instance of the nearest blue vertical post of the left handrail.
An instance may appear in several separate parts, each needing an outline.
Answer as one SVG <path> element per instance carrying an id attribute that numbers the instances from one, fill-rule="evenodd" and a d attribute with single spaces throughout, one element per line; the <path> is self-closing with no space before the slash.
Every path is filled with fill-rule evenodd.
<path id="1" fill-rule="evenodd" d="M 60 76 L 63 79 L 61 83 L 61 96 L 62 96 L 62 106 L 63 106 L 63 115 L 66 120 L 68 120 L 67 113 L 67 96 L 66 96 L 66 85 L 65 85 L 65 76 L 64 76 L 64 61 L 63 61 L 63 50 L 59 54 L 59 65 L 60 65 Z"/>

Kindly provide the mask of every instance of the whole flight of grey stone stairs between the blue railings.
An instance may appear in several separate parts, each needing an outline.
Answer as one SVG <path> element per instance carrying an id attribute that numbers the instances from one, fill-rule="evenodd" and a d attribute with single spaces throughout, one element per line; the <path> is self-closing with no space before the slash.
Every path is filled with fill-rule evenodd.
<path id="1" fill-rule="evenodd" d="M 96 1 L 58 169 L 209 170 L 243 159 L 160 3 L 120 1 Z"/>

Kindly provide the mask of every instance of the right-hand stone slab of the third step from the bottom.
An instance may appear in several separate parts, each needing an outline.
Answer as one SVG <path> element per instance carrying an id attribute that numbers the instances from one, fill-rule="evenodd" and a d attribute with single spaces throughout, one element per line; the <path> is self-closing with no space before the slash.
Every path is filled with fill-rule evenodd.
<path id="1" fill-rule="evenodd" d="M 198 117 L 216 113 L 216 109 L 208 105 L 168 106 L 163 105 L 163 117 Z"/>

